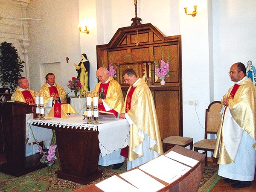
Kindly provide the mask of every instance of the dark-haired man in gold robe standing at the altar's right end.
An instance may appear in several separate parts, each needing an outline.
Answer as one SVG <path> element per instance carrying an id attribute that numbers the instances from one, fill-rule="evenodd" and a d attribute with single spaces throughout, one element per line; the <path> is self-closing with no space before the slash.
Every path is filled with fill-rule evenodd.
<path id="1" fill-rule="evenodd" d="M 130 125 L 128 151 L 121 151 L 122 155 L 128 157 L 129 170 L 163 154 L 163 146 L 154 99 L 148 85 L 131 68 L 126 69 L 122 76 L 125 83 L 130 85 L 119 117 L 127 119 Z"/>

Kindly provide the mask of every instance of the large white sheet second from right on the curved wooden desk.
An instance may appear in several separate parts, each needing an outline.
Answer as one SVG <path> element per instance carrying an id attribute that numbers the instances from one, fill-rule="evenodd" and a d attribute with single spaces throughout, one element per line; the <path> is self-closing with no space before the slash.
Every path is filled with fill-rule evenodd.
<path id="1" fill-rule="evenodd" d="M 139 169 L 165 181 L 166 183 L 172 183 L 191 168 L 161 155 L 140 166 Z"/>

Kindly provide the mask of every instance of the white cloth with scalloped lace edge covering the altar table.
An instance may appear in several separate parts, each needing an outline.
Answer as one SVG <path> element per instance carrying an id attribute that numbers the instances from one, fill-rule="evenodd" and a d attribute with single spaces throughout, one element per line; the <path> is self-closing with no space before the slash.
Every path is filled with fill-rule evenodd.
<path id="1" fill-rule="evenodd" d="M 105 115 L 108 116 L 108 115 Z M 114 150 L 124 148 L 129 144 L 130 127 L 126 119 L 99 119 L 99 125 L 86 124 L 87 119 L 84 116 L 68 116 L 68 118 L 52 117 L 50 120 L 30 119 L 27 123 L 40 125 L 51 125 L 71 129 L 84 129 L 99 131 L 99 148 L 101 156 L 111 154 Z"/>

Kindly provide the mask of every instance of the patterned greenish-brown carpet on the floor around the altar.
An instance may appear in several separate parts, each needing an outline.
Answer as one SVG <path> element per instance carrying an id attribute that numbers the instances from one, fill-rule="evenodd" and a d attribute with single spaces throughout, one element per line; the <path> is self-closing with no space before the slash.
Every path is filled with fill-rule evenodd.
<path id="1" fill-rule="evenodd" d="M 70 192 L 80 189 L 85 185 L 74 183 L 72 181 L 58 179 L 55 171 L 59 169 L 58 163 L 53 166 L 53 174 L 48 175 L 47 167 L 28 173 L 26 175 L 15 177 L 0 173 L 0 192 L 20 192 L 20 191 L 51 191 L 51 192 Z M 112 170 L 112 166 L 102 167 L 102 178 L 94 181 L 104 180 L 108 177 L 126 171 L 126 163 L 120 170 Z M 198 192 L 204 192 L 218 178 L 218 169 L 208 167 L 203 168 L 203 178 L 198 188 Z"/>

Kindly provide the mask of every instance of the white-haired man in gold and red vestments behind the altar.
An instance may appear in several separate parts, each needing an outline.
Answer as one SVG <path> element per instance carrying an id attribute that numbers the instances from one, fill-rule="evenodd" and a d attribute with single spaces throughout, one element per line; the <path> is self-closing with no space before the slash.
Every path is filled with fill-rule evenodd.
<path id="1" fill-rule="evenodd" d="M 113 77 L 108 76 L 108 70 L 104 67 L 100 67 L 96 71 L 96 77 L 100 82 L 96 84 L 94 91 L 102 93 L 98 99 L 99 111 L 112 112 L 117 117 L 124 106 L 124 98 L 120 84 L 114 80 Z M 101 154 L 99 155 L 99 165 L 114 165 L 113 169 L 119 169 L 124 160 L 125 157 L 120 155 L 120 149 L 104 157 L 102 157 Z"/>

